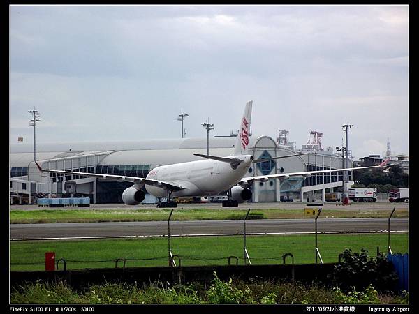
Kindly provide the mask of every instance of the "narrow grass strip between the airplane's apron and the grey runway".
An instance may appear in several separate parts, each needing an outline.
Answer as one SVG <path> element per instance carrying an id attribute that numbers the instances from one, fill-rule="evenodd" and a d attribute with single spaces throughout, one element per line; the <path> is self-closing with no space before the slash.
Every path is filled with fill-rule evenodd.
<path id="1" fill-rule="evenodd" d="M 105 221 L 167 220 L 171 209 L 40 209 L 10 211 L 10 223 L 96 223 Z M 304 209 L 257 209 L 250 213 L 263 218 L 304 218 Z M 247 209 L 175 209 L 172 220 L 231 220 L 243 219 Z M 320 218 L 387 218 L 390 211 L 378 209 L 323 209 Z M 398 209 L 393 217 L 408 217 L 407 209 Z"/>

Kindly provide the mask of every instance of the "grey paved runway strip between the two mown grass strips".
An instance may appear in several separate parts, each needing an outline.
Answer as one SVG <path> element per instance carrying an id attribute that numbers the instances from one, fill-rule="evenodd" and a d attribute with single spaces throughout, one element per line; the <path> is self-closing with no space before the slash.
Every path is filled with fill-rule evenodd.
<path id="1" fill-rule="evenodd" d="M 170 234 L 243 234 L 243 220 L 172 221 Z M 314 219 L 247 220 L 247 234 L 314 232 Z M 319 218 L 318 232 L 383 232 L 388 218 Z M 409 218 L 392 218 L 391 230 L 409 230 Z M 10 225 L 10 239 L 140 237 L 168 235 L 167 221 L 131 223 L 42 223 Z"/>

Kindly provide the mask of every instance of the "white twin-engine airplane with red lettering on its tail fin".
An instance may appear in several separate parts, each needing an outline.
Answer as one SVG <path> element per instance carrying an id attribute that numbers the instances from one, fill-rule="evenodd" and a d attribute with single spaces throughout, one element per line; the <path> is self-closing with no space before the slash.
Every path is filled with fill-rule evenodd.
<path id="1" fill-rule="evenodd" d="M 246 103 L 243 117 L 240 121 L 240 132 L 237 135 L 233 154 L 220 157 L 203 154 L 194 154 L 205 158 L 203 160 L 189 161 L 186 163 L 175 163 L 172 165 L 161 165 L 152 169 L 147 177 L 128 177 L 114 174 L 94 174 L 87 172 L 71 172 L 64 170 L 45 170 L 36 165 L 41 172 L 54 172 L 59 174 L 75 174 L 85 177 L 96 177 L 98 179 L 112 179 L 117 181 L 132 182 L 133 186 L 126 188 L 122 193 L 122 200 L 128 205 L 137 205 L 145 199 L 145 191 L 155 197 L 166 197 L 167 202 L 161 202 L 157 207 L 177 207 L 177 203 L 170 200 L 171 197 L 206 197 L 219 195 L 228 191 L 228 200 L 223 201 L 223 207 L 237 207 L 238 203 L 246 202 L 252 197 L 249 189 L 254 181 L 267 181 L 272 178 L 287 179 L 289 177 L 311 177 L 312 174 L 339 172 L 348 170 L 361 170 L 374 167 L 385 167 L 388 159 L 376 166 L 352 167 L 334 170 L 316 170 L 290 172 L 281 174 L 267 174 L 256 177 L 244 177 L 253 163 L 266 162 L 269 160 L 299 156 L 294 154 L 267 159 L 255 159 L 248 152 L 249 131 L 251 124 L 251 110 L 253 101 Z"/>

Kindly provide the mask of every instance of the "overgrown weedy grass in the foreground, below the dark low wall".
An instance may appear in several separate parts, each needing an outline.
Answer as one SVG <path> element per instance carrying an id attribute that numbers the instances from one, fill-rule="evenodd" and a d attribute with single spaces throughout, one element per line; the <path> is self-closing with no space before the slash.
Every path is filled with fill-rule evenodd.
<path id="1" fill-rule="evenodd" d="M 28 283 L 10 293 L 12 304 L 406 304 L 408 294 L 381 294 L 369 289 L 345 295 L 338 289 L 273 281 L 221 281 L 168 287 L 163 283 L 92 285 L 82 291 L 64 282 Z"/>

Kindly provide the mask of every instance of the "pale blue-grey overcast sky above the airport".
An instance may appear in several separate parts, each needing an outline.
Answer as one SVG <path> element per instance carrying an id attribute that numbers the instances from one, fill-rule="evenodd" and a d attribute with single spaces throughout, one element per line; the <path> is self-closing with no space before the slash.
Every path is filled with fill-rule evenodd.
<path id="1" fill-rule="evenodd" d="M 309 131 L 408 154 L 409 6 L 10 6 L 10 142 Z"/>

